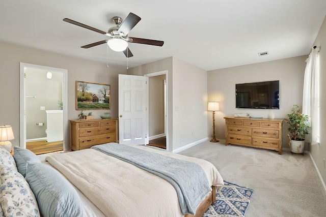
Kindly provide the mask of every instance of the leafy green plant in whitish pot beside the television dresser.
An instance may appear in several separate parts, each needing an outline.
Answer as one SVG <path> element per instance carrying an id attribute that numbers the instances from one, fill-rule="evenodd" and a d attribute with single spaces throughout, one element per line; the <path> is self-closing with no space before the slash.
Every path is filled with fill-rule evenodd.
<path id="1" fill-rule="evenodd" d="M 292 112 L 288 114 L 287 123 L 289 128 L 291 152 L 303 153 L 305 147 L 305 135 L 309 134 L 307 129 L 308 115 L 300 113 L 298 105 L 293 105 Z"/>

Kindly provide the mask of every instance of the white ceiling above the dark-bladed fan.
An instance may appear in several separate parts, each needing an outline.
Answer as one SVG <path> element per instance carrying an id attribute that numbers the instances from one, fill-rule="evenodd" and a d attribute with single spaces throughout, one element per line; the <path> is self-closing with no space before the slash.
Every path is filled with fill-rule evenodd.
<path id="1" fill-rule="evenodd" d="M 80 48 L 108 37 L 62 20 L 107 32 L 112 17 L 129 12 L 142 18 L 129 36 L 165 44 L 129 43 L 128 63 L 106 44 Z M 208 71 L 307 55 L 325 14 L 326 0 L 0 0 L 0 41 L 104 66 L 131 68 L 173 56 Z M 258 56 L 264 51 L 269 55 Z"/>

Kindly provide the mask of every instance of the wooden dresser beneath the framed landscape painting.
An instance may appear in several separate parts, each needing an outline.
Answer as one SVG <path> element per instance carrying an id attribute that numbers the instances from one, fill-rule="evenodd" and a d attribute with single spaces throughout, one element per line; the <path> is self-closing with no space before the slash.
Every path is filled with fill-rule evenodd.
<path id="1" fill-rule="evenodd" d="M 72 150 L 90 148 L 107 142 L 118 142 L 118 118 L 69 121 Z"/>

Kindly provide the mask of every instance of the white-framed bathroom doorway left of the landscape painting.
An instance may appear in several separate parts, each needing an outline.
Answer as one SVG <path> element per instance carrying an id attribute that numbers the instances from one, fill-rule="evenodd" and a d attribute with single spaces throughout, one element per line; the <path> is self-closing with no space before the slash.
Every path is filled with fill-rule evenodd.
<path id="1" fill-rule="evenodd" d="M 65 69 L 20 63 L 20 147 L 36 154 L 67 148 L 67 77 Z"/>

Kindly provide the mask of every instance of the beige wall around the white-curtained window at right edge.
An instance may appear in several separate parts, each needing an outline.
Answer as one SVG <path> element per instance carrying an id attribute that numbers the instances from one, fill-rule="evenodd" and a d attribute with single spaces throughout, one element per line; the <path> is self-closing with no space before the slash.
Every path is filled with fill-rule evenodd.
<path id="1" fill-rule="evenodd" d="M 320 27 L 314 45 L 320 46 L 320 144 L 311 145 L 310 153 L 318 167 L 320 175 L 326 182 L 326 17 Z"/>

